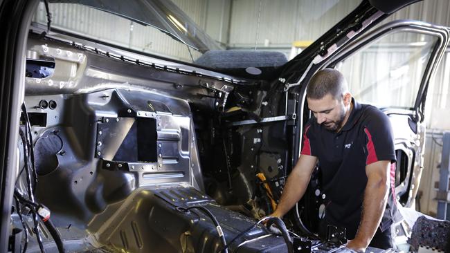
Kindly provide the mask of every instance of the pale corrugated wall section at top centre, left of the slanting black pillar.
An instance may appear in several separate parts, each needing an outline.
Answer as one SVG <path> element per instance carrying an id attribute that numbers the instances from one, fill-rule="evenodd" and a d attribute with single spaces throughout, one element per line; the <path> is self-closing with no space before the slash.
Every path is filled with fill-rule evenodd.
<path id="1" fill-rule="evenodd" d="M 229 46 L 290 48 L 293 41 L 317 39 L 360 2 L 233 0 Z"/>

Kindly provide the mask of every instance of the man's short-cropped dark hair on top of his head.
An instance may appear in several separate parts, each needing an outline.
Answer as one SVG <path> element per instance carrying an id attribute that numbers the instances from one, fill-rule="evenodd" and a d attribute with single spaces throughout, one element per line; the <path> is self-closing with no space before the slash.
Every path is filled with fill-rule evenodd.
<path id="1" fill-rule="evenodd" d="M 347 91 L 347 81 L 341 72 L 332 68 L 325 68 L 314 74 L 309 80 L 306 89 L 306 97 L 320 100 L 325 95 L 331 94 L 335 100 L 341 101 Z"/>

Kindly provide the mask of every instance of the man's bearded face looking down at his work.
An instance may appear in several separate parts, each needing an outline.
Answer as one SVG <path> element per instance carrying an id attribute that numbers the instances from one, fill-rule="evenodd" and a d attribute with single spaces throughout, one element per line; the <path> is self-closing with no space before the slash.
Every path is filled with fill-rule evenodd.
<path id="1" fill-rule="evenodd" d="M 307 98 L 309 110 L 312 111 L 318 124 L 323 124 L 328 131 L 336 131 L 342 127 L 347 110 L 348 98 L 344 95 L 341 101 L 334 99 L 331 94 L 320 100 Z M 350 98 L 351 100 L 351 98 Z"/>

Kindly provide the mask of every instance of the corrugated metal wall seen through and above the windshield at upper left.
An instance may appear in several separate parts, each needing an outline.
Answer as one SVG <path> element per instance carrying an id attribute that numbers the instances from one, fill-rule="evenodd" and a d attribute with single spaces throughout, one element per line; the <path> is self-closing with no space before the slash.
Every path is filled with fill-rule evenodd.
<path id="1" fill-rule="evenodd" d="M 175 0 L 174 3 L 201 28 L 205 27 L 207 0 Z M 77 4 L 50 4 L 50 11 L 52 26 L 56 28 L 69 29 L 111 44 L 191 62 L 187 46 L 150 26 L 142 26 L 128 19 Z M 39 4 L 34 20 L 46 23 L 44 3 Z M 200 55 L 195 50 L 191 52 L 195 58 Z"/>

